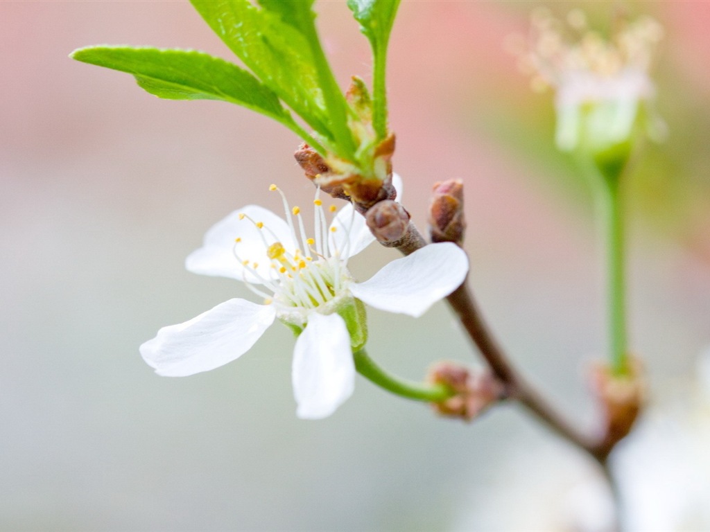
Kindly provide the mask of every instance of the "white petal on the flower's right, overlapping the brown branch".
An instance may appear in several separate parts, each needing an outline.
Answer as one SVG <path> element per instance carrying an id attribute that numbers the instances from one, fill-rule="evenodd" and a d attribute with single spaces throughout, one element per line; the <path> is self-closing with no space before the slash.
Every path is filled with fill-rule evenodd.
<path id="1" fill-rule="evenodd" d="M 469 260 L 456 244 L 430 244 L 393 260 L 371 279 L 351 284 L 350 292 L 376 309 L 421 316 L 464 282 Z"/>

